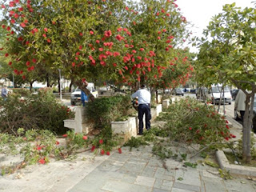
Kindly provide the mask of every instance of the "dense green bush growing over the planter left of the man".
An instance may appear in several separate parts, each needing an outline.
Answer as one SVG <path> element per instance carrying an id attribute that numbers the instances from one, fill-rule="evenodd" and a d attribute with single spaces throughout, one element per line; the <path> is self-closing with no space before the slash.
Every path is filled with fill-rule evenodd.
<path id="1" fill-rule="evenodd" d="M 128 96 L 96 98 L 94 102 L 86 103 L 86 117 L 99 129 L 110 126 L 110 122 L 121 120 L 133 113 Z"/>

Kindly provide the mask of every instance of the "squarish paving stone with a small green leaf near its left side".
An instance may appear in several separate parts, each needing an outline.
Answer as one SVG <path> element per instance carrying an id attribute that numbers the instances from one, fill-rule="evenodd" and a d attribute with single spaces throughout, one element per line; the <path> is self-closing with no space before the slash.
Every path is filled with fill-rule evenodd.
<path id="1" fill-rule="evenodd" d="M 178 178 L 182 178 L 182 181 L 178 180 Z M 176 170 L 175 182 L 180 182 L 191 186 L 201 186 L 198 170 Z"/>

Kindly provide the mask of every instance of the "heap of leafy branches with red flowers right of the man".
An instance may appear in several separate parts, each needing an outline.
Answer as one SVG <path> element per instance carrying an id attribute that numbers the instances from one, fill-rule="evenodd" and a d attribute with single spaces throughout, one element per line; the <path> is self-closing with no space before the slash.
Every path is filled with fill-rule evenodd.
<path id="1" fill-rule="evenodd" d="M 175 102 L 157 119 L 167 122 L 166 134 L 177 142 L 210 144 L 235 138 L 214 106 L 204 105 L 193 98 Z"/>

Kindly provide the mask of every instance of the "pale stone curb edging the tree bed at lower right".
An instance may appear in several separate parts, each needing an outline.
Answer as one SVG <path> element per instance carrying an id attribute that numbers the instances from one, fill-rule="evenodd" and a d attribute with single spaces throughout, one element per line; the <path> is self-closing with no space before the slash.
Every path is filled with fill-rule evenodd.
<path id="1" fill-rule="evenodd" d="M 226 155 L 222 150 L 216 151 L 216 158 L 218 161 L 218 165 L 221 167 L 221 169 L 226 169 L 230 171 L 230 174 L 242 174 L 246 176 L 256 177 L 255 167 L 230 165 L 230 162 L 227 160 Z"/>

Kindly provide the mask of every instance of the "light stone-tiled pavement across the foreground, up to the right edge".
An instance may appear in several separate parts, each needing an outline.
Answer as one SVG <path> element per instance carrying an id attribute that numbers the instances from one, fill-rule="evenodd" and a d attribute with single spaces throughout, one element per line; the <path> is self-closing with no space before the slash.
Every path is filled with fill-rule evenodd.
<path id="1" fill-rule="evenodd" d="M 255 192 L 256 182 L 235 176 L 223 180 L 210 166 L 196 169 L 182 166 L 173 159 L 162 161 L 151 154 L 152 146 L 132 151 L 125 147 L 122 154 L 112 154 L 90 174 L 74 185 L 70 192 L 82 191 L 154 191 L 154 192 Z"/>

